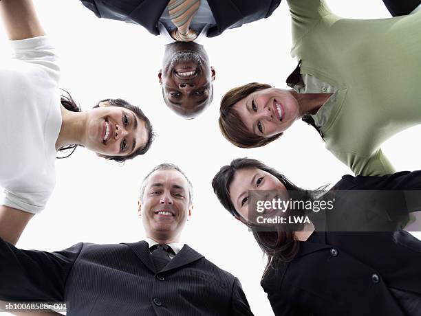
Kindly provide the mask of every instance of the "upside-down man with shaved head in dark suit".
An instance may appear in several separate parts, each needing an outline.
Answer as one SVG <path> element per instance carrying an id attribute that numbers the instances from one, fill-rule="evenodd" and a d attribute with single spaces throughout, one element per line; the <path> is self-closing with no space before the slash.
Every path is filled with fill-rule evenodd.
<path id="1" fill-rule="evenodd" d="M 168 39 L 158 77 L 167 106 L 178 115 L 193 118 L 210 105 L 215 69 L 199 40 L 215 37 L 228 28 L 265 19 L 281 0 L 201 0 L 190 23 L 197 38 L 177 41 L 176 29 L 167 10 L 169 0 L 81 0 L 96 16 L 136 23 L 153 35 Z M 186 0 L 181 0 L 186 1 Z"/>

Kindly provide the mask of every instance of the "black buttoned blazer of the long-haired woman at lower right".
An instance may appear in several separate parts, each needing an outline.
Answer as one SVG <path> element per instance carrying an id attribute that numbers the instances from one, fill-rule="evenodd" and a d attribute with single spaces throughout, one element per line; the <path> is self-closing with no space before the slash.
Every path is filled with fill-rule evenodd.
<path id="1" fill-rule="evenodd" d="M 421 171 L 383 177 L 347 175 L 334 188 L 417 192 Z M 421 308 L 421 242 L 411 234 L 314 232 L 299 246 L 294 260 L 270 268 L 261 281 L 275 315 L 404 316 L 396 297 L 405 293 L 418 297 L 414 304 Z"/>

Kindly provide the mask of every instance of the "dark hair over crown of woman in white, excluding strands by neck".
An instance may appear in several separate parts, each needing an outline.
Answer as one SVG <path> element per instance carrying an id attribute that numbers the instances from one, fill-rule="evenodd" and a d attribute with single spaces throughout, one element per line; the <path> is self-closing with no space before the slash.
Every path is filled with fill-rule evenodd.
<path id="1" fill-rule="evenodd" d="M 134 106 L 133 104 L 130 104 L 126 100 L 122 100 L 122 99 L 101 100 L 100 102 L 98 102 L 98 104 L 96 104 L 96 106 L 94 106 L 94 108 L 99 107 L 99 104 L 101 102 L 108 102 L 110 106 L 118 106 L 118 107 L 125 108 L 127 110 L 132 111 L 133 113 L 136 114 L 136 116 L 140 120 L 142 120 L 144 122 L 144 126 L 147 130 L 147 133 L 148 133 L 148 140 L 147 140 L 146 144 L 144 144 L 144 146 L 142 146 L 142 147 L 139 147 L 135 152 L 131 153 L 130 155 L 127 155 L 127 156 L 101 155 L 101 157 L 104 157 L 105 159 L 109 159 L 109 160 L 123 162 L 123 161 L 129 160 L 129 159 L 133 159 L 134 157 L 136 157 L 138 155 L 143 155 L 144 153 L 146 153 L 149 150 L 149 148 L 151 148 L 151 144 L 153 142 L 153 139 L 155 139 L 155 133 L 153 132 L 151 121 L 149 120 L 149 118 L 146 115 L 144 115 L 143 111 L 138 106 Z"/>

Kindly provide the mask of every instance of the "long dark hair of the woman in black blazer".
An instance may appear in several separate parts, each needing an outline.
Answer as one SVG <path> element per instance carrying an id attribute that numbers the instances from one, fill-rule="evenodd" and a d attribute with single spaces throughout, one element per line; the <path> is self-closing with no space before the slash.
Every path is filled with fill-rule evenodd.
<path id="1" fill-rule="evenodd" d="M 313 191 L 303 190 L 294 185 L 294 183 L 288 180 L 283 174 L 266 166 L 259 160 L 248 158 L 234 159 L 231 161 L 230 165 L 222 167 L 215 175 L 212 181 L 212 187 L 222 206 L 237 218 L 241 218 L 241 216 L 237 210 L 235 210 L 235 207 L 231 202 L 229 191 L 230 184 L 233 182 L 237 170 L 250 168 L 257 168 L 272 174 L 285 185 L 287 190 L 298 191 L 301 194 L 301 198 L 307 199 L 307 201 L 314 201 L 317 196 L 320 196 L 325 192 L 326 187 Z M 268 263 L 266 264 L 263 275 L 268 271 L 268 268 L 272 266 L 272 264 L 290 262 L 296 256 L 296 253 L 298 253 L 299 242 L 296 240 L 294 232 L 281 231 L 281 229 L 262 232 L 261 229 L 257 229 L 258 226 L 256 224 L 246 223 L 246 225 L 250 227 L 253 236 L 263 253 L 268 256 Z"/>

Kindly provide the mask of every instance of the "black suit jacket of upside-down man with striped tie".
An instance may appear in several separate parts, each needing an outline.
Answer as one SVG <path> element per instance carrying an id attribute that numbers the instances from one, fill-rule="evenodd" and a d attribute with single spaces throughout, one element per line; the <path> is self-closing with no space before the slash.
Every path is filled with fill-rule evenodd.
<path id="1" fill-rule="evenodd" d="M 81 0 L 99 18 L 136 23 L 158 35 L 158 20 L 169 0 Z M 278 8 L 281 0 L 207 0 L 215 18 L 208 37 L 222 34 L 228 28 L 265 19 Z"/>

